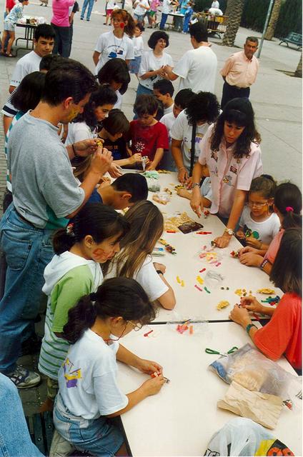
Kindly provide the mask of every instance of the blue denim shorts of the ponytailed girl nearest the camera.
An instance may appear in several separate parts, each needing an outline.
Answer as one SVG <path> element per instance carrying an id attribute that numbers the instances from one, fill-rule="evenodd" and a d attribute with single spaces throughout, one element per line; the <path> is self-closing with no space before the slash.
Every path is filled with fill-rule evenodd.
<path id="1" fill-rule="evenodd" d="M 74 416 L 64 406 L 60 394 L 54 404 L 54 426 L 76 449 L 92 456 L 114 457 L 124 442 L 123 434 L 110 418 Z"/>

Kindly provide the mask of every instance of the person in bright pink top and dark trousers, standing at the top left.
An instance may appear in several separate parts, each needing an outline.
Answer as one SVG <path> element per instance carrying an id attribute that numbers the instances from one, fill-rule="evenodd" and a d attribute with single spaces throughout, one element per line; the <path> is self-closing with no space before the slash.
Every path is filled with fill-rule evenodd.
<path id="1" fill-rule="evenodd" d="M 75 0 L 53 0 L 53 17 L 51 25 L 56 32 L 53 54 L 69 57 L 69 6 L 74 5 Z"/>

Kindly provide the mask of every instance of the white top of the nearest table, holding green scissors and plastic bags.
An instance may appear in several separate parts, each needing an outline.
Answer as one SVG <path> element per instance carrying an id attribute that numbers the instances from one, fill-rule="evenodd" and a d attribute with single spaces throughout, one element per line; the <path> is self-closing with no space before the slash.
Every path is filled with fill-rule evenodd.
<path id="1" fill-rule="evenodd" d="M 131 332 L 121 341 L 142 358 L 157 361 L 170 379 L 155 396 L 150 396 L 121 416 L 133 456 L 202 456 L 212 434 L 235 418 L 217 408 L 229 386 L 207 370 L 219 356 L 205 348 L 228 351 L 244 346 L 249 337 L 233 322 L 209 323 L 202 333 L 180 335 L 167 325 L 153 325 L 155 338 Z M 279 365 L 294 373 L 285 359 Z M 295 373 L 294 373 L 295 374 Z M 148 376 L 119 363 L 118 382 L 125 393 L 138 388 Z M 294 455 L 302 455 L 302 413 L 299 408 L 282 409 L 278 426 L 270 431 L 285 443 Z"/>

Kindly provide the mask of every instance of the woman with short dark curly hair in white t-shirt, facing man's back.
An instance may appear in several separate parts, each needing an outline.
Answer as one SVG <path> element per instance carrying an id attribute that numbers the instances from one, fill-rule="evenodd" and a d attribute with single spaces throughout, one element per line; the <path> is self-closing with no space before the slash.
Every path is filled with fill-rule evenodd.
<path id="1" fill-rule="evenodd" d="M 164 52 L 164 49 L 169 46 L 169 36 L 166 32 L 154 31 L 147 44 L 151 50 L 145 51 L 141 59 L 137 97 L 141 94 L 152 95 L 154 83 L 165 76 L 164 66 L 174 65 L 172 57 Z"/>

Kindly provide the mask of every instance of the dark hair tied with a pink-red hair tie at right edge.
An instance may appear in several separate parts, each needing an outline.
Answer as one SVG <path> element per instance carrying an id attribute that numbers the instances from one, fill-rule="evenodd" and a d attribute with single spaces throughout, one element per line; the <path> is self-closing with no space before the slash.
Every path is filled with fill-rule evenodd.
<path id="1" fill-rule="evenodd" d="M 283 229 L 302 227 L 302 194 L 296 184 L 279 184 L 274 193 L 274 206 L 283 216 Z"/>

